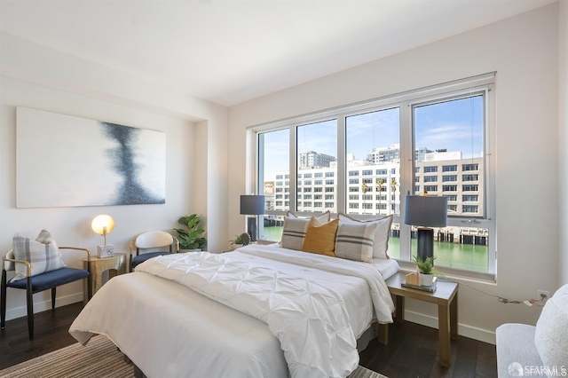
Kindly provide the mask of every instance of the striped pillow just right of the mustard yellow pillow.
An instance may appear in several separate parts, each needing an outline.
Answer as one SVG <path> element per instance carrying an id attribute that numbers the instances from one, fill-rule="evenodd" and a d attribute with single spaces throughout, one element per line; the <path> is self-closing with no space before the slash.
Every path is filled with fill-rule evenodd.
<path id="1" fill-rule="evenodd" d="M 375 222 L 340 223 L 335 237 L 335 256 L 371 263 L 378 226 Z"/>

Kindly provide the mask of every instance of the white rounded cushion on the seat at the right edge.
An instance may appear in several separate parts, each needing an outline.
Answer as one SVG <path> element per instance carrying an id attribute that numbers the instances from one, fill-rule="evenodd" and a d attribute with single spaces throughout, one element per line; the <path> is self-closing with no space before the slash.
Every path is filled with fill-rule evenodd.
<path id="1" fill-rule="evenodd" d="M 536 323 L 534 344 L 544 366 L 560 368 L 568 363 L 568 284 L 548 299 Z"/>

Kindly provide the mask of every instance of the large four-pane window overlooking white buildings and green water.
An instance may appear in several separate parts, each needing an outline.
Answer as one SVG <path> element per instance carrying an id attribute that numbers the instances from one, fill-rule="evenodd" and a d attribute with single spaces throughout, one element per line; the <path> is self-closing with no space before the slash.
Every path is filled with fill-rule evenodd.
<path id="1" fill-rule="evenodd" d="M 404 223 L 404 194 L 444 195 L 448 222 L 435 230 L 438 269 L 457 267 L 458 274 L 492 278 L 493 80 L 493 74 L 479 75 L 251 129 L 258 135 L 258 187 L 272 181 L 275 192 L 282 187 L 293 192 L 292 210 L 325 208 L 360 219 L 394 214 L 389 253 L 403 265 L 416 254 L 411 227 Z M 273 159 L 277 152 L 282 154 Z M 290 182 L 282 183 L 290 172 Z M 305 187 L 312 177 L 325 180 Z M 318 197 L 299 203 L 295 194 L 306 189 L 323 192 L 325 202 Z M 285 216 L 288 209 L 270 201 L 276 205 L 269 214 Z M 453 243 L 447 242 L 450 232 L 458 239 Z M 463 232 L 483 234 L 483 242 Z"/>

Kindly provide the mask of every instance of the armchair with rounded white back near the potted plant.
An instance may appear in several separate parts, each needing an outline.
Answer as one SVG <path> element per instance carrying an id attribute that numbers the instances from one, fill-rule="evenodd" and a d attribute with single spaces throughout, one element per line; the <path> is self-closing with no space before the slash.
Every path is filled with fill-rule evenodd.
<path id="1" fill-rule="evenodd" d="M 163 250 L 166 247 L 168 250 Z M 134 248 L 136 248 L 136 256 L 132 256 Z M 155 249 L 161 250 L 156 251 Z M 179 252 L 179 242 L 170 233 L 163 231 L 140 233 L 135 240 L 130 242 L 130 272 L 134 271 L 136 265 L 142 264 L 152 257 L 177 252 Z"/>

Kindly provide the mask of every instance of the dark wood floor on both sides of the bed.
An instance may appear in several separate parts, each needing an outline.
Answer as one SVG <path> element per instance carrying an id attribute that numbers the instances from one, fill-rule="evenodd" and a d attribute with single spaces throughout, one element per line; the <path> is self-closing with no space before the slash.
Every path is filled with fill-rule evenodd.
<path id="1" fill-rule="evenodd" d="M 82 303 L 36 314 L 36 336 L 28 339 L 26 318 L 6 322 L 0 333 L 0 369 L 58 350 L 75 339 L 68 334 Z M 495 346 L 459 336 L 452 340 L 452 366 L 438 364 L 438 330 L 414 323 L 391 324 L 389 343 L 369 343 L 359 364 L 390 378 L 402 377 L 496 377 Z"/>

